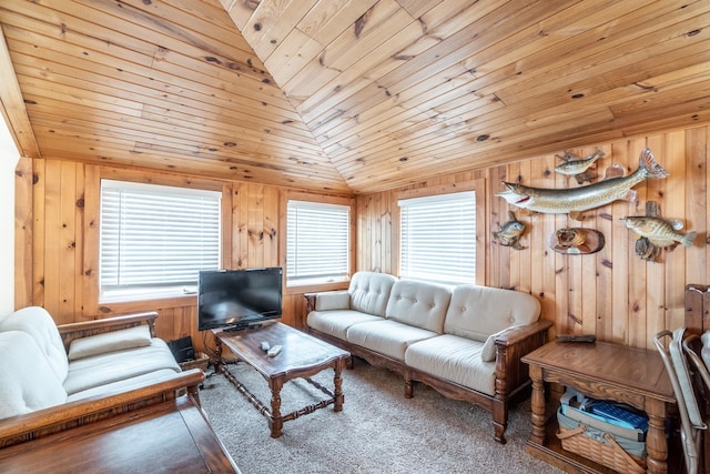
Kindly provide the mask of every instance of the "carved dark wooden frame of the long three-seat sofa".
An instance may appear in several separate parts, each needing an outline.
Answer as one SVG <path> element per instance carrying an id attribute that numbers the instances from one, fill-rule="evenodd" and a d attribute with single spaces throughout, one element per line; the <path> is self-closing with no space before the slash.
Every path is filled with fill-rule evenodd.
<path id="1" fill-rule="evenodd" d="M 315 295 L 308 293 L 305 297 L 307 314 L 315 309 Z M 527 326 L 511 327 L 496 339 L 496 394 L 493 396 L 409 367 L 402 361 L 322 333 L 307 325 L 306 330 L 310 334 L 348 351 L 351 355 L 364 359 L 372 365 L 400 373 L 404 376 L 406 399 L 414 396 L 414 382 L 422 382 L 448 399 L 465 401 L 490 412 L 494 437 L 497 442 L 505 444 L 509 404 L 527 394 L 530 389 L 528 365 L 521 363 L 520 359 L 545 344 L 547 330 L 551 326 L 550 321 L 537 321 Z M 352 360 L 348 366 L 352 369 Z"/>

